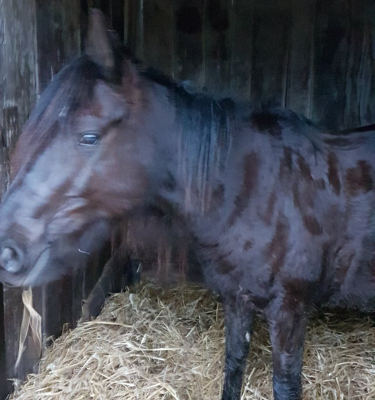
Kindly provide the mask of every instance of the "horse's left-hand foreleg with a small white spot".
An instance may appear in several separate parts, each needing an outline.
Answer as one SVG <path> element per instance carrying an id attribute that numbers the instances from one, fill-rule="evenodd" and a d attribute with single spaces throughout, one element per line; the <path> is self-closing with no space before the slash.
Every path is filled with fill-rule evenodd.
<path id="1" fill-rule="evenodd" d="M 253 311 L 241 297 L 223 302 L 225 314 L 225 379 L 222 400 L 239 400 L 249 353 Z"/>

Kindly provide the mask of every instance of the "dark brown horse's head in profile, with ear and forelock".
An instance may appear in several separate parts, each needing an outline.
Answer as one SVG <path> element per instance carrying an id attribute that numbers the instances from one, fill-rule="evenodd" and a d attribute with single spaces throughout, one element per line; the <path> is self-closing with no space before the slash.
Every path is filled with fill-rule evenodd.
<path id="1" fill-rule="evenodd" d="M 142 100 L 125 64 L 94 12 L 86 53 L 41 96 L 12 157 L 0 206 L 4 283 L 27 287 L 66 273 L 146 196 L 149 154 L 136 117 Z"/>

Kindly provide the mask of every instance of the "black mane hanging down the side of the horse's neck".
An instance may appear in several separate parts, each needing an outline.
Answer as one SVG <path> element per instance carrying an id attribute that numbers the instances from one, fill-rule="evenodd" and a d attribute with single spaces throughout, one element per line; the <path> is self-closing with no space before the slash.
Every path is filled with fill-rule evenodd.
<path id="1" fill-rule="evenodd" d="M 152 68 L 140 69 L 140 75 L 167 89 L 176 108 L 178 171 L 184 182 L 185 206 L 189 210 L 194 203 L 204 212 L 211 205 L 219 171 L 230 150 L 235 103 L 195 93 L 187 89 L 186 82 L 177 83 Z"/>

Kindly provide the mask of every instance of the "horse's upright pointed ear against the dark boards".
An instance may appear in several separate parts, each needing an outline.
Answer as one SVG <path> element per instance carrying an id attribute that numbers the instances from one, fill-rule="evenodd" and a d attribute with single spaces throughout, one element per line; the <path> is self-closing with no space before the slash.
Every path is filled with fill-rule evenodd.
<path id="1" fill-rule="evenodd" d="M 111 79 L 115 70 L 115 54 L 103 13 L 93 8 L 89 16 L 86 54 L 101 67 L 104 76 Z"/>

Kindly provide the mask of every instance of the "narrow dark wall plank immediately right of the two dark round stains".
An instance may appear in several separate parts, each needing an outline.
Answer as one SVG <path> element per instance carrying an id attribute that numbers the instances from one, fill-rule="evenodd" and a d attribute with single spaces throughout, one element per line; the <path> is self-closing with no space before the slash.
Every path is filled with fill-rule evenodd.
<path id="1" fill-rule="evenodd" d="M 250 101 L 254 0 L 237 0 L 231 14 L 231 95 Z"/>

